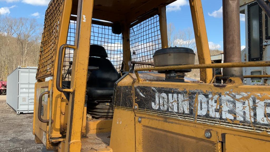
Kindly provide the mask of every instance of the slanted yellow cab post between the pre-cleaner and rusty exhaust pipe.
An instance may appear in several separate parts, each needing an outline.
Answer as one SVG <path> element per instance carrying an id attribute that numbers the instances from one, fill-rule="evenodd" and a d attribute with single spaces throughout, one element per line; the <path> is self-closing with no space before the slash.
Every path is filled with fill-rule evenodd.
<path id="1" fill-rule="evenodd" d="M 196 40 L 198 59 L 200 64 L 211 64 L 210 50 L 206 33 L 203 6 L 201 0 L 189 0 Z M 212 69 L 201 69 L 201 81 L 209 83 L 212 80 Z"/>

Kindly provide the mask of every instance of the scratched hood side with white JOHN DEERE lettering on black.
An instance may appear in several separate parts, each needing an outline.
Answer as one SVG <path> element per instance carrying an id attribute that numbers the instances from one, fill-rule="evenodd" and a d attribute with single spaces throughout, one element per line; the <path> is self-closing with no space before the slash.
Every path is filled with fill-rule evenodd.
<path id="1" fill-rule="evenodd" d="M 134 87 L 139 113 L 270 134 L 270 95 L 265 89 L 268 86 L 141 85 Z"/>

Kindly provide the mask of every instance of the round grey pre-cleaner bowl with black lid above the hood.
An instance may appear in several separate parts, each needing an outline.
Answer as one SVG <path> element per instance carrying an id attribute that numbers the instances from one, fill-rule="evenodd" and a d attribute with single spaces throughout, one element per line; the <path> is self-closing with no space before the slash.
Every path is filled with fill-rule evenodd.
<path id="1" fill-rule="evenodd" d="M 170 47 L 159 49 L 154 53 L 155 67 L 172 65 L 191 65 L 195 62 L 195 53 L 190 48 Z M 191 69 L 176 70 L 179 72 L 190 72 Z M 163 73 L 164 71 L 158 71 Z"/>

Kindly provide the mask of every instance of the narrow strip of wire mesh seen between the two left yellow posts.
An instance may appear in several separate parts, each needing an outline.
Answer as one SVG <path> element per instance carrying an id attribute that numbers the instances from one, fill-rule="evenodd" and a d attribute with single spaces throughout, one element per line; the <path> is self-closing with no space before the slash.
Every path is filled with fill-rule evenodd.
<path id="1" fill-rule="evenodd" d="M 68 37 L 67 37 L 67 44 L 74 45 L 75 43 L 75 35 L 76 35 L 76 21 L 70 20 L 69 22 L 69 30 L 68 30 Z M 66 48 L 65 50 L 65 57 L 63 62 L 63 69 L 62 74 L 65 76 L 66 72 L 69 68 L 69 61 L 73 61 L 73 49 Z M 68 74 L 66 75 L 66 78 L 64 78 L 66 81 L 71 80 L 71 76 Z"/>

